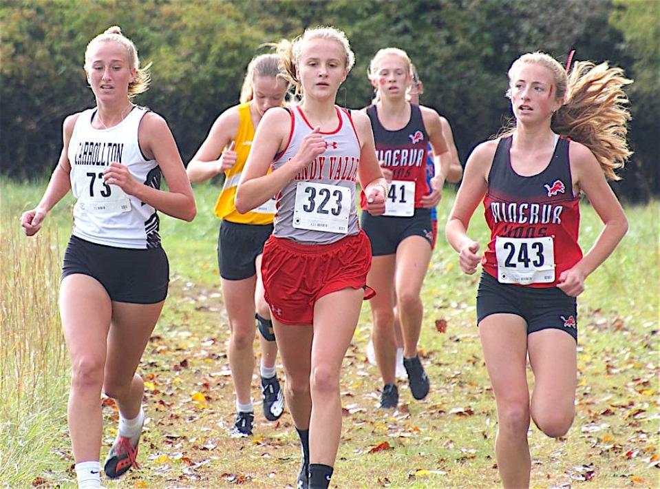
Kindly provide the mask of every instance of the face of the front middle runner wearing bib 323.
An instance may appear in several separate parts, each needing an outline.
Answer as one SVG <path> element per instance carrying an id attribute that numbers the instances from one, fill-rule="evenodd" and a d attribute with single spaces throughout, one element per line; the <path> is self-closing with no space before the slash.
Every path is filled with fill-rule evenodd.
<path id="1" fill-rule="evenodd" d="M 348 75 L 343 46 L 332 39 L 310 39 L 302 46 L 298 74 L 306 97 L 334 101 Z"/>

